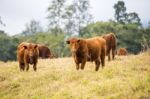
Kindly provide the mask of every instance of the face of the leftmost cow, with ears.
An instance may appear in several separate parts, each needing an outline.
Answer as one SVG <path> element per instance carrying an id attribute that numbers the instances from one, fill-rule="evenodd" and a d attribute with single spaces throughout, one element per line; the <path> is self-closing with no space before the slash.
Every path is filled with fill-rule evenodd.
<path id="1" fill-rule="evenodd" d="M 29 44 L 28 46 L 24 46 L 25 49 L 28 50 L 29 62 L 33 64 L 34 55 L 37 53 L 37 45 Z"/>

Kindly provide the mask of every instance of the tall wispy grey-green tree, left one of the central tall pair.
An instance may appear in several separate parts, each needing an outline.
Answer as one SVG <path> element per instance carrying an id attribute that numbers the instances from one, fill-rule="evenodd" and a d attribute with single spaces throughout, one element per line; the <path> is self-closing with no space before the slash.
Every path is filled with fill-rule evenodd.
<path id="1" fill-rule="evenodd" d="M 52 0 L 51 4 L 48 7 L 48 20 L 49 20 L 49 30 L 54 30 L 55 35 L 58 35 L 61 30 L 61 25 L 63 23 L 63 13 L 64 13 L 64 4 L 66 0 Z"/>

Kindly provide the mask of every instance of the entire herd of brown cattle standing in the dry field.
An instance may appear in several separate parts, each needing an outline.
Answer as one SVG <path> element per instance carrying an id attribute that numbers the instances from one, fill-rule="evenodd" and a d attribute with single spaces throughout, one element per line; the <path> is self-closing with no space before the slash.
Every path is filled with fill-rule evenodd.
<path id="1" fill-rule="evenodd" d="M 70 51 L 74 58 L 76 69 L 84 69 L 87 61 L 95 62 L 98 71 L 100 63 L 102 68 L 105 66 L 105 56 L 108 56 L 108 61 L 115 58 L 116 54 L 116 36 L 114 33 L 109 33 L 103 36 L 93 38 L 70 38 L 66 41 L 70 45 Z M 112 52 L 112 55 L 110 53 Z M 118 49 L 118 55 L 127 55 L 125 48 Z M 17 59 L 21 71 L 29 70 L 29 64 L 33 65 L 34 71 L 37 70 L 38 58 L 53 58 L 54 55 L 50 49 L 41 44 L 22 42 L 17 48 Z M 81 64 L 81 66 L 80 66 Z"/>

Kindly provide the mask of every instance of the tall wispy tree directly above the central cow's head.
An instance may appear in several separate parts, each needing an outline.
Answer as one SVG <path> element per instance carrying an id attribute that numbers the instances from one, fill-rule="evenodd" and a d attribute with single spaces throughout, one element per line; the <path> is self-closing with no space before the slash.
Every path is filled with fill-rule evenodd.
<path id="1" fill-rule="evenodd" d="M 73 17 L 75 21 L 75 32 L 81 32 L 81 29 L 90 23 L 92 15 L 89 13 L 89 0 L 74 0 L 73 1 Z M 82 35 L 81 35 L 82 36 Z"/>

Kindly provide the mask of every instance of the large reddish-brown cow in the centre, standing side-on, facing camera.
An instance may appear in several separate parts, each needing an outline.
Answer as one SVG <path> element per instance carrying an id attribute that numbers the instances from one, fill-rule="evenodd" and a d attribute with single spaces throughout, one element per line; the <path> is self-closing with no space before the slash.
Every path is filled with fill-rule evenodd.
<path id="1" fill-rule="evenodd" d="M 106 41 L 101 37 L 94 37 L 90 39 L 77 39 L 70 38 L 66 41 L 70 44 L 70 50 L 76 63 L 76 69 L 84 69 L 86 61 L 95 61 L 96 68 L 99 70 L 100 60 L 102 67 L 105 66 L 105 54 L 106 54 Z"/>

